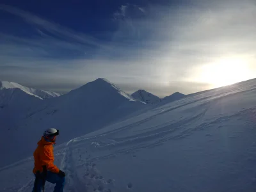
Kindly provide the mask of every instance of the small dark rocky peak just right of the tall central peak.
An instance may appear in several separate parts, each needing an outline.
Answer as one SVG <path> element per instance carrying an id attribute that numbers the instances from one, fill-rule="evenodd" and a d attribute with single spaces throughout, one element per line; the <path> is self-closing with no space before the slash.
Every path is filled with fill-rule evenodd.
<path id="1" fill-rule="evenodd" d="M 154 104 L 157 102 L 161 102 L 161 99 L 152 93 L 148 93 L 145 90 L 138 90 L 137 92 L 132 93 L 131 95 L 134 99 L 140 100 L 141 102 L 145 102 L 147 104 Z"/>

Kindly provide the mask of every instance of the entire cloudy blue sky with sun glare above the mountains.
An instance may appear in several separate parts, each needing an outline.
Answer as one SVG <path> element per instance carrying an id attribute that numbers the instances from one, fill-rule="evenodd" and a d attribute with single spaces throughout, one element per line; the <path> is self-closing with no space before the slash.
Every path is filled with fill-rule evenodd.
<path id="1" fill-rule="evenodd" d="M 65 93 L 98 77 L 127 93 L 195 93 L 256 77 L 256 1 L 0 4 L 0 81 Z"/>

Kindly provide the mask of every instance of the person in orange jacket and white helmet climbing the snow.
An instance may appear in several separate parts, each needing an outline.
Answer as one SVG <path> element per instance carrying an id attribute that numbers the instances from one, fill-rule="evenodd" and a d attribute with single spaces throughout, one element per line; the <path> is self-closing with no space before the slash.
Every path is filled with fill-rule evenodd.
<path id="1" fill-rule="evenodd" d="M 32 192 L 44 191 L 45 181 L 56 184 L 54 192 L 63 192 L 65 185 L 65 173 L 54 165 L 53 145 L 56 137 L 59 135 L 57 129 L 51 128 L 44 132 L 41 140 L 38 141 L 34 152 L 35 167 L 35 184 Z"/>

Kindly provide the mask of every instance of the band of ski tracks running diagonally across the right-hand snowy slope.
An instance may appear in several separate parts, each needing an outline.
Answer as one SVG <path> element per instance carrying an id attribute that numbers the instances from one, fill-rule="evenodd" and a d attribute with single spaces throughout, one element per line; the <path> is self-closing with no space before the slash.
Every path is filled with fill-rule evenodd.
<path id="1" fill-rule="evenodd" d="M 246 116 L 246 114 L 254 114 L 254 113 L 256 115 L 256 112 L 255 112 L 256 106 L 255 106 L 253 108 L 244 109 L 243 111 L 239 111 L 232 115 L 221 116 L 220 118 L 215 118 L 207 122 L 200 122 L 198 123 L 198 125 L 196 125 L 196 122 L 200 121 L 201 118 L 204 117 L 205 113 L 207 113 L 209 107 L 210 106 L 207 106 L 207 108 L 205 108 L 204 111 L 202 111 L 202 113 L 198 113 L 197 115 L 192 116 L 191 118 L 180 120 L 173 124 L 169 123 L 166 126 L 160 125 L 158 129 L 154 129 L 153 131 L 147 131 L 142 134 L 136 134 L 135 136 L 127 136 L 124 138 L 112 139 L 111 141 L 113 141 L 113 143 L 104 143 L 103 142 L 104 137 L 106 136 L 110 137 L 112 133 L 124 131 L 124 129 L 131 129 L 132 127 L 136 127 L 139 124 L 141 124 L 141 122 L 135 122 L 134 124 L 121 127 L 118 130 L 107 132 L 106 134 L 100 135 L 99 138 L 95 136 L 95 138 L 88 138 L 84 140 L 74 140 L 74 141 L 76 142 L 77 146 L 79 145 L 84 146 L 84 145 L 89 145 L 89 143 L 93 143 L 95 144 L 95 148 L 97 148 L 97 150 L 102 150 L 102 151 L 108 150 L 111 148 L 116 148 L 114 153 L 108 154 L 106 156 L 93 157 L 93 159 L 91 159 L 92 161 L 95 161 L 95 160 L 99 161 L 100 159 L 115 157 L 118 154 L 127 154 L 129 152 L 138 151 L 142 148 L 156 147 L 157 145 L 161 145 L 162 143 L 168 140 L 182 139 L 193 134 L 193 132 L 195 131 L 207 129 L 211 125 L 219 124 L 220 122 L 225 122 L 230 118 L 238 118 L 241 116 Z M 148 118 L 147 120 L 150 120 L 150 118 Z M 144 120 L 144 121 L 147 121 L 147 120 Z M 191 124 L 196 126 L 191 127 L 190 126 Z M 189 127 L 186 127 L 184 125 L 189 125 Z M 150 127 L 148 129 L 153 129 L 153 128 L 157 128 L 157 127 Z M 219 126 L 218 128 L 221 128 L 221 126 Z M 99 143 L 94 142 L 95 139 L 97 139 L 97 141 L 100 141 L 100 142 Z M 120 147 L 122 148 L 119 149 Z"/>

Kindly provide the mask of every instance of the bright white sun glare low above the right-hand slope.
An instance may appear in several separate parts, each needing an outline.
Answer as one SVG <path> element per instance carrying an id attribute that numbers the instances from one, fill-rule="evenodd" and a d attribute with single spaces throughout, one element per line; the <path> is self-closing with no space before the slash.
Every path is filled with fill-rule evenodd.
<path id="1" fill-rule="evenodd" d="M 200 79 L 204 83 L 212 84 L 212 88 L 217 88 L 247 80 L 248 74 L 250 74 L 250 68 L 246 60 L 230 57 L 204 65 Z"/>

